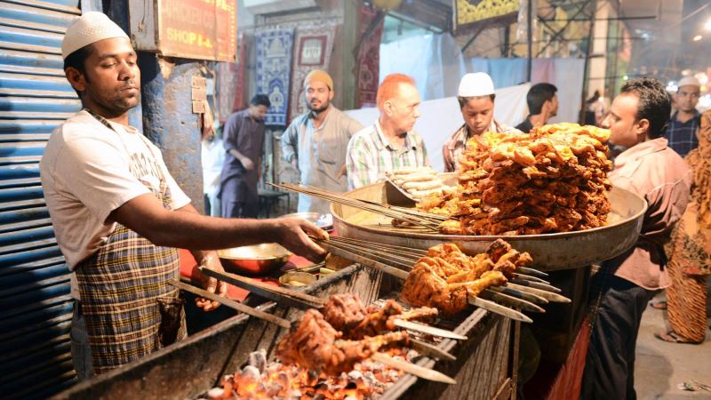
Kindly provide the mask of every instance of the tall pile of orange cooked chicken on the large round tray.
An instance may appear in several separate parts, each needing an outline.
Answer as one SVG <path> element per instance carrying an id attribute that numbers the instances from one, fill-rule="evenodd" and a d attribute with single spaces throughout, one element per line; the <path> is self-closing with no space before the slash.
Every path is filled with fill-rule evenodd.
<path id="1" fill-rule="evenodd" d="M 485 132 L 470 139 L 460 157 L 458 196 L 429 196 L 418 208 L 451 215 L 440 226 L 450 235 L 603 226 L 610 212 L 609 134 L 578 124 L 544 125 L 527 134 Z"/>

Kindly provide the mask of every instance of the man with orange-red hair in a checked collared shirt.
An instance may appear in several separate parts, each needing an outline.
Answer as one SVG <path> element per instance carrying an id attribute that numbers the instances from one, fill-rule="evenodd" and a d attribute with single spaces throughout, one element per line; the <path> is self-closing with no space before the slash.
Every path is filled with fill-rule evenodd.
<path id="1" fill-rule="evenodd" d="M 386 171 L 429 166 L 422 137 L 412 130 L 419 117 L 415 81 L 403 74 L 385 77 L 376 95 L 380 116 L 348 142 L 348 188 L 385 179 Z"/>

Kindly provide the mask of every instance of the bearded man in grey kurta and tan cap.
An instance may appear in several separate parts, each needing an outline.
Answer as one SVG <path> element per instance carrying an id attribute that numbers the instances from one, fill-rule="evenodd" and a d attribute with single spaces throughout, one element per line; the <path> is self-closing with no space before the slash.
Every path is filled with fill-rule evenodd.
<path id="1" fill-rule="evenodd" d="M 282 136 L 284 160 L 300 172 L 304 185 L 343 193 L 346 179 L 348 140 L 363 125 L 331 104 L 333 80 L 321 70 L 304 79 L 308 113 L 297 116 Z M 299 196 L 299 212 L 329 212 L 329 202 Z"/>

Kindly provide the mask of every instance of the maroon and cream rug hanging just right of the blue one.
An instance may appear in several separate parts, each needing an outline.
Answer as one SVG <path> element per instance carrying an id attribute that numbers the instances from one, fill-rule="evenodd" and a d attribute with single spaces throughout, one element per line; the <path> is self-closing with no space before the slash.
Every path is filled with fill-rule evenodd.
<path id="1" fill-rule="evenodd" d="M 294 40 L 294 66 L 292 71 L 292 92 L 289 100 L 291 121 L 307 112 L 304 99 L 304 78 L 314 69 L 328 71 L 333 49 L 334 25 L 296 28 Z"/>

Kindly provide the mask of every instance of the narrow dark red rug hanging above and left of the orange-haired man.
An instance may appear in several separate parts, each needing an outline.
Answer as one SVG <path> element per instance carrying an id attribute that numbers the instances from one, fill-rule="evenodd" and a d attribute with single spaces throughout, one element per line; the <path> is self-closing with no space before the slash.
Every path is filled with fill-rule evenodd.
<path id="1" fill-rule="evenodd" d="M 383 35 L 383 20 L 371 27 L 371 21 L 377 17 L 371 8 L 361 7 L 360 34 L 363 36 L 368 28 L 371 35 L 363 40 L 358 52 L 357 60 L 357 91 L 358 104 L 356 108 L 375 107 L 375 94 L 378 92 L 379 64 L 380 64 L 380 37 Z"/>

